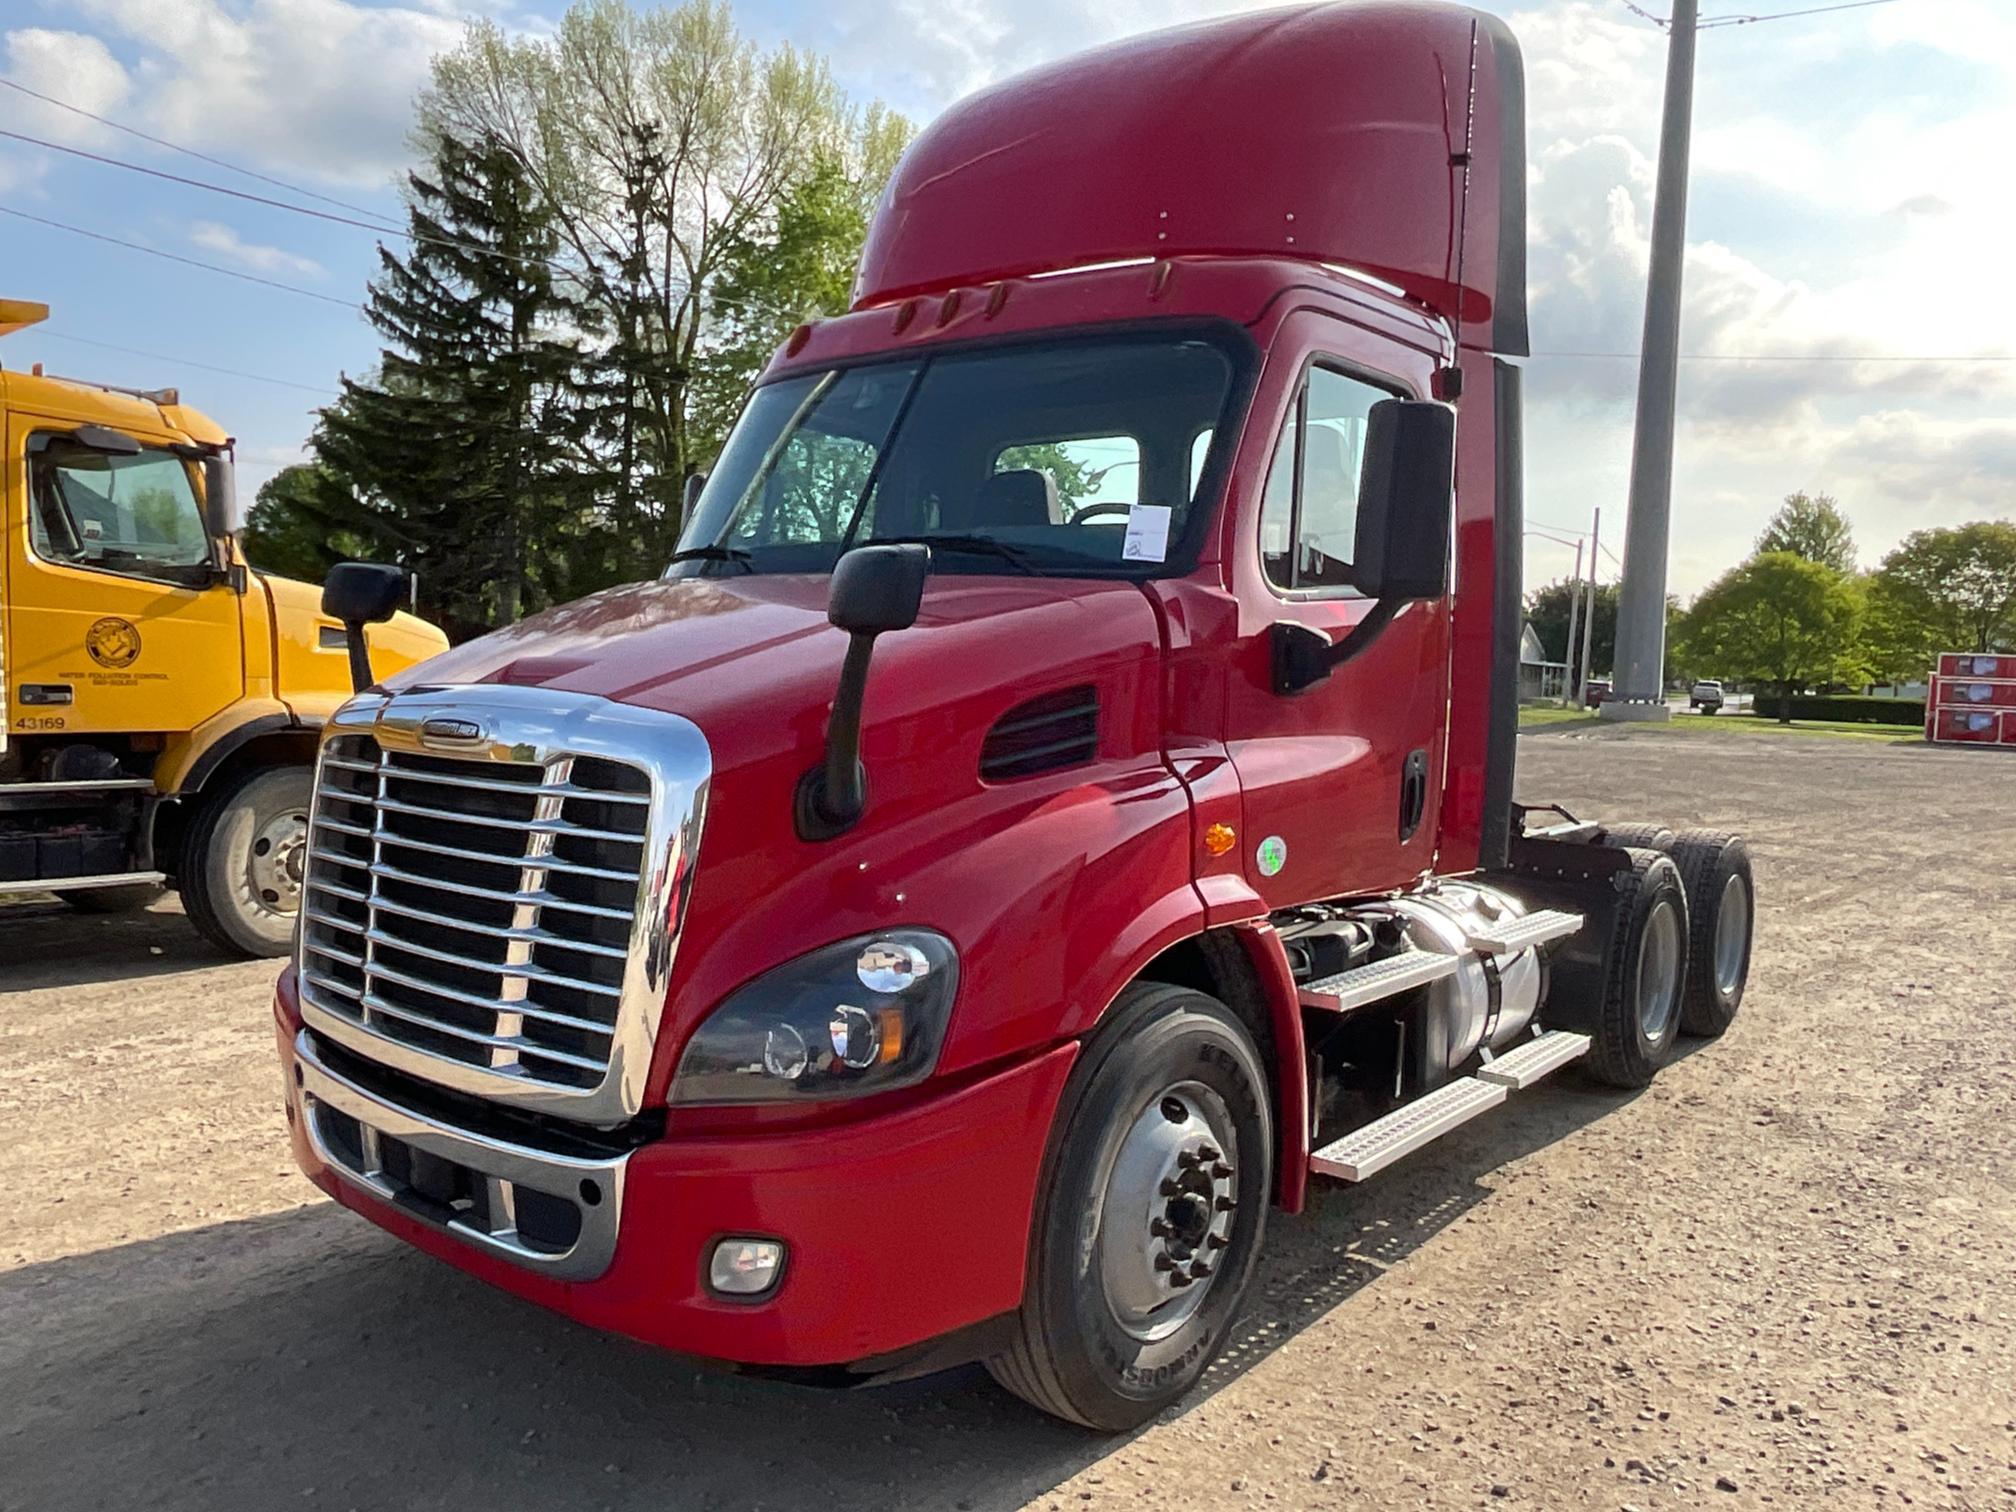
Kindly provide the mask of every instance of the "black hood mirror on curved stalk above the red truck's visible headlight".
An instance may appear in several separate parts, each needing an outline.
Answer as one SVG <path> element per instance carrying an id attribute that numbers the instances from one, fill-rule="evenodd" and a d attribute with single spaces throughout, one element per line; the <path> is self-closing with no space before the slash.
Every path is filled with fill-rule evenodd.
<path id="1" fill-rule="evenodd" d="M 929 575 L 931 548 L 919 544 L 857 546 L 833 569 L 827 619 L 847 631 L 847 659 L 827 720 L 827 760 L 798 782 L 796 823 L 806 841 L 831 841 L 869 804 L 869 774 L 861 766 L 869 655 L 877 635 L 917 623 Z"/>

